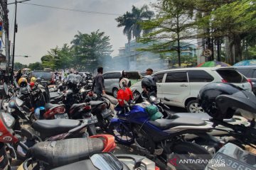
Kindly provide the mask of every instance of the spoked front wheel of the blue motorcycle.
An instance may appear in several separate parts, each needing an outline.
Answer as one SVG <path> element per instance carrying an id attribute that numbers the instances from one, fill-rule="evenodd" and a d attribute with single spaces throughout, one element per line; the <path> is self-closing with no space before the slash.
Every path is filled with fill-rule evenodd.
<path id="1" fill-rule="evenodd" d="M 110 123 L 107 132 L 114 136 L 114 139 L 122 145 L 134 144 L 134 135 L 132 130 L 122 123 Z M 124 136 L 125 135 L 125 136 Z M 128 138 L 129 137 L 129 138 Z"/>

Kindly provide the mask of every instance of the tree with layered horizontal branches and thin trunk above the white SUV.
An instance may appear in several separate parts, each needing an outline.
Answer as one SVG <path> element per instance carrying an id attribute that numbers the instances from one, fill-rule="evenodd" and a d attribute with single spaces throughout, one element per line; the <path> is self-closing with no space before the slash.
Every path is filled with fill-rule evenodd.
<path id="1" fill-rule="evenodd" d="M 187 0 L 166 0 L 155 4 L 159 12 L 156 18 L 141 23 L 142 29 L 153 30 L 144 35 L 139 42 L 151 42 L 146 50 L 157 53 L 176 51 L 178 66 L 181 67 L 181 40 L 195 38 L 194 20 L 190 10 L 183 8 Z"/>

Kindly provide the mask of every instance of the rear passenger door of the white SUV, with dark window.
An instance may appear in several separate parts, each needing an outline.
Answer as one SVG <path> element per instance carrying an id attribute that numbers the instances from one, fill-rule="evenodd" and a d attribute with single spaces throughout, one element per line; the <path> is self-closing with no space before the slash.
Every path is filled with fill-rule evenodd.
<path id="1" fill-rule="evenodd" d="M 161 98 L 171 106 L 184 107 L 184 99 L 190 95 L 190 86 L 186 71 L 168 72 L 161 84 Z"/>

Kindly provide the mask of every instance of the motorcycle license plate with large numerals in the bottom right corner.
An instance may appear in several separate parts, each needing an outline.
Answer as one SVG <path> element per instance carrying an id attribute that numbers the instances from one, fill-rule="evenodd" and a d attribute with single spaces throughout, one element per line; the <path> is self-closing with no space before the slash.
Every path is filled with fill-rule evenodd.
<path id="1" fill-rule="evenodd" d="M 219 161 L 211 162 L 211 164 L 208 164 L 206 169 L 210 170 L 252 170 L 256 169 L 256 167 L 253 167 L 250 164 L 245 164 L 245 162 L 242 162 L 240 160 L 234 159 L 232 157 L 228 157 L 225 154 L 217 153 L 215 155 L 215 159 L 218 159 Z M 247 158 L 248 159 L 248 158 Z M 248 159 L 249 161 L 249 159 Z"/>

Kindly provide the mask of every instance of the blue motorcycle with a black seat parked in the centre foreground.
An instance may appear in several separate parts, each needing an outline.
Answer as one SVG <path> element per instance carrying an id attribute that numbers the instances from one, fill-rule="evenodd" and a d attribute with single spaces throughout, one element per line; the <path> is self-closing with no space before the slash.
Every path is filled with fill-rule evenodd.
<path id="1" fill-rule="evenodd" d="M 139 96 L 143 97 L 143 94 Z M 150 96 L 149 101 L 155 97 Z M 137 100 L 139 101 L 139 100 Z M 143 100 L 142 100 L 143 101 Z M 123 145 L 135 144 L 139 151 L 155 161 L 159 160 L 164 169 L 204 169 L 204 164 L 178 164 L 177 157 L 181 159 L 210 159 L 210 153 L 200 145 L 187 142 L 184 135 L 205 135 L 210 126 L 205 121 L 194 118 L 159 118 L 150 120 L 146 107 L 152 103 L 144 100 L 142 103 L 126 103 L 117 106 L 117 116 L 112 118 L 108 132 L 114 135 L 115 140 Z M 174 161 L 175 160 L 175 161 Z"/>

